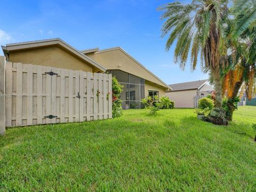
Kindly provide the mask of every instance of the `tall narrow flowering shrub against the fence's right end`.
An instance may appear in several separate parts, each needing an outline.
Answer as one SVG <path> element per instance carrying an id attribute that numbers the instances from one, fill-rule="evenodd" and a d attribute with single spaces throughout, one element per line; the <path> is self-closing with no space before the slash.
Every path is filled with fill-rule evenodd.
<path id="1" fill-rule="evenodd" d="M 112 117 L 121 117 L 123 115 L 122 100 L 120 99 L 120 94 L 123 85 L 118 83 L 116 77 L 112 77 Z"/>

